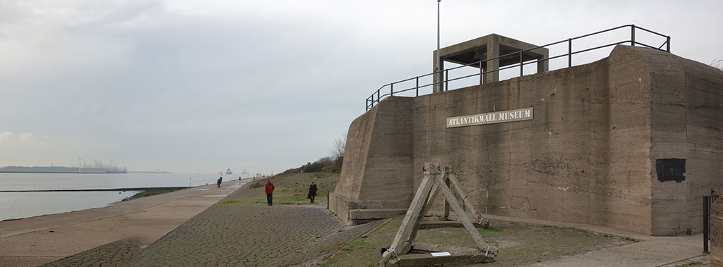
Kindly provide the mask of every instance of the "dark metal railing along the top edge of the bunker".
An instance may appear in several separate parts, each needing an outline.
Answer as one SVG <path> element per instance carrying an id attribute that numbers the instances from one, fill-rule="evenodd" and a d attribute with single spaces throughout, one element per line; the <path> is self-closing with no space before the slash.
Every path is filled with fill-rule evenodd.
<path id="1" fill-rule="evenodd" d="M 611 32 L 611 31 L 614 31 L 614 30 L 620 30 L 620 29 L 623 29 L 623 28 L 626 28 L 626 27 L 630 27 L 630 39 L 628 39 L 628 40 L 621 40 L 621 41 L 619 41 L 619 42 L 609 43 L 609 44 L 607 44 L 607 45 L 599 45 L 599 46 L 596 46 L 596 47 L 594 47 L 594 48 L 586 48 L 586 49 L 583 49 L 583 50 L 580 50 L 580 51 L 573 51 L 573 40 L 578 40 L 578 39 L 582 39 L 582 38 L 588 38 L 588 37 L 593 36 L 593 35 L 599 35 L 599 34 L 602 34 L 602 33 L 604 33 L 604 32 Z M 664 43 L 662 43 L 662 45 L 660 45 L 659 47 L 654 47 L 654 46 L 648 45 L 648 44 L 646 44 L 646 43 L 640 43 L 640 42 L 636 41 L 636 30 L 643 30 L 644 32 L 649 32 L 649 33 L 651 33 L 651 34 L 658 35 L 658 36 L 660 36 L 660 37 L 665 38 L 665 41 L 664 41 Z M 547 58 L 540 58 L 540 59 L 538 59 L 538 60 L 536 60 L 536 61 L 524 61 L 524 60 L 523 60 L 523 55 L 524 55 L 524 53 L 526 53 L 526 52 L 534 51 L 534 50 L 539 49 L 539 48 L 547 48 L 548 46 L 558 45 L 558 44 L 561 44 L 561 43 L 568 43 L 568 53 L 563 53 L 563 54 L 557 55 L 557 56 L 548 56 Z M 492 73 L 492 72 L 498 72 L 498 71 L 502 71 L 502 70 L 505 70 L 505 69 L 520 68 L 520 76 L 523 76 L 523 71 L 524 71 L 524 66 L 525 66 L 525 65 L 536 64 L 536 63 L 539 63 L 539 62 L 549 61 L 549 60 L 552 60 L 552 59 L 555 59 L 555 58 L 562 58 L 562 57 L 565 57 L 565 56 L 568 57 L 568 68 L 569 68 L 569 67 L 573 66 L 573 55 L 575 55 L 575 54 L 585 53 L 585 52 L 589 52 L 589 51 L 594 51 L 594 50 L 596 50 L 596 49 L 607 48 L 607 47 L 609 47 L 609 46 L 620 45 L 620 44 L 625 44 L 625 43 L 630 43 L 630 45 L 632 45 L 632 46 L 642 45 L 642 46 L 647 47 L 647 48 L 654 48 L 654 49 L 657 49 L 657 50 L 660 50 L 660 51 L 670 52 L 670 36 L 668 36 L 668 35 L 662 35 L 662 34 L 660 34 L 660 33 L 658 33 L 658 32 L 654 32 L 654 31 L 651 31 L 651 30 L 647 30 L 647 29 L 645 29 L 645 28 L 643 28 L 643 27 L 638 27 L 638 26 L 636 26 L 636 25 L 623 25 L 623 26 L 613 27 L 613 28 L 610 28 L 610 29 L 607 29 L 607 30 L 601 30 L 601 31 L 599 31 L 599 32 L 593 32 L 593 33 L 589 33 L 589 34 L 586 34 L 586 35 L 581 35 L 581 36 L 578 36 L 578 37 L 576 37 L 576 38 L 568 38 L 567 40 L 561 40 L 561 41 L 558 41 L 558 42 L 555 42 L 555 43 L 548 43 L 547 45 L 540 45 L 540 46 L 536 46 L 536 47 L 534 47 L 534 48 L 528 48 L 528 49 L 525 49 L 525 50 L 521 50 L 521 51 L 517 51 L 517 52 L 513 52 L 513 53 L 508 53 L 508 54 L 505 54 L 505 55 L 502 55 L 502 56 L 497 56 L 497 57 L 495 57 L 495 58 L 487 58 L 487 59 L 484 59 L 484 60 L 482 60 L 482 61 L 477 61 L 477 62 L 474 62 L 474 63 L 471 63 L 471 64 L 465 64 L 465 65 L 461 65 L 461 66 L 456 66 L 456 67 L 454 67 L 454 68 L 444 69 L 444 70 L 442 70 L 442 71 L 435 71 L 435 72 L 432 72 L 432 73 L 429 73 L 429 74 L 424 74 L 424 75 L 422 75 L 422 76 L 411 77 L 411 78 L 409 78 L 409 79 L 403 79 L 403 80 L 401 80 L 401 81 L 392 82 L 392 83 L 390 83 L 390 84 L 385 84 L 385 85 L 383 85 L 382 87 L 380 87 L 379 89 L 377 89 L 376 92 L 372 93 L 371 96 L 367 97 L 367 105 L 366 105 L 366 108 L 367 108 L 367 110 L 370 110 L 370 109 L 374 108 L 374 105 L 377 104 L 377 103 L 379 103 L 383 98 L 388 97 L 388 96 L 393 96 L 394 94 L 401 94 L 401 93 L 403 93 L 403 92 L 409 92 L 409 91 L 414 90 L 414 91 L 415 91 L 415 96 L 419 96 L 419 89 L 423 89 L 423 88 L 426 88 L 426 87 L 435 87 L 436 85 L 442 86 L 442 84 L 443 84 L 443 87 L 442 87 L 442 88 L 445 89 L 444 91 L 446 91 L 446 90 L 449 89 L 449 87 L 448 87 L 449 82 L 453 82 L 453 81 L 457 81 L 457 80 L 461 80 L 461 79 L 466 79 L 466 78 L 470 78 L 470 77 L 474 77 L 474 76 L 479 76 L 479 84 L 482 84 L 482 79 L 483 79 L 484 74 L 488 74 L 488 73 Z M 665 46 L 665 49 L 662 49 L 663 46 Z M 517 55 L 518 55 L 519 58 L 520 58 L 520 63 L 518 63 L 518 64 L 514 64 L 514 65 L 510 65 L 510 66 L 505 66 L 505 67 L 503 67 L 503 68 L 498 68 L 498 69 L 490 69 L 490 70 L 487 70 L 487 71 L 484 71 L 484 69 L 482 68 L 483 66 L 485 66 L 485 64 L 487 63 L 487 61 L 500 60 L 501 58 L 510 58 L 511 56 L 517 56 Z M 463 68 L 463 67 L 466 67 L 466 66 L 478 66 L 478 65 L 479 65 L 479 73 L 469 74 L 469 75 L 464 75 L 464 76 L 459 76 L 459 77 L 456 77 L 456 78 L 453 78 L 453 79 L 449 79 L 449 71 L 453 71 L 453 70 L 455 70 L 455 69 L 460 69 L 460 68 Z M 433 75 L 436 75 L 436 74 L 443 74 L 443 76 L 444 76 L 443 80 L 440 80 L 440 81 L 437 81 L 437 82 L 430 82 L 430 83 L 427 83 L 427 84 L 419 85 L 419 78 L 425 78 L 425 77 L 433 76 Z M 408 88 L 404 88 L 404 89 L 398 89 L 397 91 L 394 90 L 394 85 L 395 85 L 395 84 L 397 84 L 397 86 L 399 87 L 399 86 L 401 85 L 401 83 L 410 82 L 410 81 L 415 81 L 415 82 L 416 82 L 416 84 L 414 85 L 414 87 L 408 87 Z M 389 89 L 388 92 L 382 93 L 382 90 L 384 90 L 385 88 L 388 88 L 388 89 Z"/>

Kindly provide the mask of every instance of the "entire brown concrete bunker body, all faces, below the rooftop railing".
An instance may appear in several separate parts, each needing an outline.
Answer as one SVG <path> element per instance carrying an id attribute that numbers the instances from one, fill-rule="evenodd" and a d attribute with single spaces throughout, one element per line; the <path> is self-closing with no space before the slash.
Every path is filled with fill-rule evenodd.
<path id="1" fill-rule="evenodd" d="M 701 196 L 723 188 L 723 71 L 617 45 L 591 64 L 491 79 L 387 97 L 356 118 L 330 210 L 348 224 L 403 214 L 424 162 L 439 162 L 482 214 L 701 232 Z M 446 125 L 524 108 L 533 119 Z"/>

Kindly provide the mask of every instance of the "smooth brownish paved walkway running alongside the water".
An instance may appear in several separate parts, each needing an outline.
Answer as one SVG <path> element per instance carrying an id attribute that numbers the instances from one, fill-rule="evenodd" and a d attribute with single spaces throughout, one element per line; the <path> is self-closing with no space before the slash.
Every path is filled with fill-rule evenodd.
<path id="1" fill-rule="evenodd" d="M 105 208 L 0 222 L 0 266 L 38 266 L 119 240 L 149 245 L 239 185 L 236 180 L 221 188 L 205 185 Z"/>

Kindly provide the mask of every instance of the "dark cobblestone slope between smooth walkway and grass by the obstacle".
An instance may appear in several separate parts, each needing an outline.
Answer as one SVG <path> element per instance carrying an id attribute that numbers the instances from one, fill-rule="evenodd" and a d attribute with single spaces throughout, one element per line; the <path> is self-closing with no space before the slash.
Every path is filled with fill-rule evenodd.
<path id="1" fill-rule="evenodd" d="M 303 265 L 321 248 L 356 240 L 381 223 L 346 227 L 321 206 L 211 206 L 147 248 L 121 240 L 48 266 Z"/>

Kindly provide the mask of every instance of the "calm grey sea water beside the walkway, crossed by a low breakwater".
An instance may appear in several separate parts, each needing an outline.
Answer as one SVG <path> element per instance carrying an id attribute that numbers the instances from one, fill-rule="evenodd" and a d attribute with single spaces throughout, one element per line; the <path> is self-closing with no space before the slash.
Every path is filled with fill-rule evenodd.
<path id="1" fill-rule="evenodd" d="M 177 173 L 0 173 L 0 191 L 150 188 L 214 184 L 218 175 Z M 224 177 L 234 180 L 234 177 Z M 236 177 L 235 179 L 238 179 Z M 0 192 L 0 221 L 108 206 L 134 191 Z"/>

